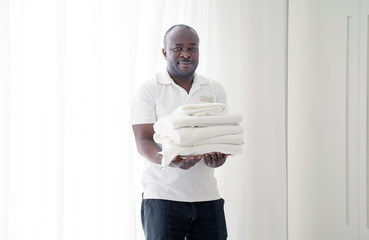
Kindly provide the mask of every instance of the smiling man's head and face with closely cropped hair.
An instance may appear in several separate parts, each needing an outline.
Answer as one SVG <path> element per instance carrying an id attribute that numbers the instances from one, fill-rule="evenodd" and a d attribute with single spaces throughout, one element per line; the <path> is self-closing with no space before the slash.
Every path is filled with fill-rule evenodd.
<path id="1" fill-rule="evenodd" d="M 163 49 L 167 70 L 173 77 L 192 77 L 199 63 L 199 38 L 187 28 L 174 28 L 167 36 Z"/>

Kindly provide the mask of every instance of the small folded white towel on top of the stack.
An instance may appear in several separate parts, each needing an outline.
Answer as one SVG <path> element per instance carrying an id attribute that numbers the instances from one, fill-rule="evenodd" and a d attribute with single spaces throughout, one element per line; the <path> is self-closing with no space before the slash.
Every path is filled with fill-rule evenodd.
<path id="1" fill-rule="evenodd" d="M 190 115 L 190 116 L 210 116 L 225 114 L 228 112 L 227 105 L 224 103 L 202 103 L 202 104 L 185 104 L 174 110 L 173 114 Z"/>

